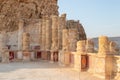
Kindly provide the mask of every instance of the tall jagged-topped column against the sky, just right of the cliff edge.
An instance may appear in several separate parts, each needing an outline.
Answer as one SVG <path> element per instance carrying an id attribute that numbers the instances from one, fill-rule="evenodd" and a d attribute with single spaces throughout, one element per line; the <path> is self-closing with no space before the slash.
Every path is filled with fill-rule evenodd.
<path id="1" fill-rule="evenodd" d="M 62 14 L 58 21 L 58 47 L 62 50 L 62 30 L 66 27 L 66 14 Z"/>

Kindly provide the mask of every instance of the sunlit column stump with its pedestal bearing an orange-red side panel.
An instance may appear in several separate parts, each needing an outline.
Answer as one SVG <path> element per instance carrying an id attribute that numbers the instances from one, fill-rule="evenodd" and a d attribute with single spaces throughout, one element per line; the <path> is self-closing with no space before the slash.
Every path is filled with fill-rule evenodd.
<path id="1" fill-rule="evenodd" d="M 81 71 L 81 69 L 86 69 L 87 61 L 86 61 L 86 41 L 78 41 L 77 42 L 77 52 L 74 55 L 74 67 L 76 70 Z"/>

